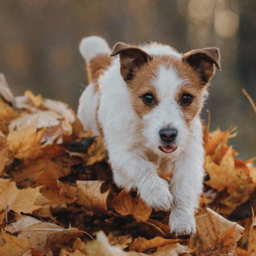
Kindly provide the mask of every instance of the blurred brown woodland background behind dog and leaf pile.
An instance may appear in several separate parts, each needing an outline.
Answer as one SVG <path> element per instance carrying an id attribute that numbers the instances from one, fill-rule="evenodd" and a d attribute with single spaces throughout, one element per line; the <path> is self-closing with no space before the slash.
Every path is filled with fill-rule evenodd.
<path id="1" fill-rule="evenodd" d="M 82 37 L 100 35 L 112 47 L 159 41 L 179 52 L 218 46 L 222 71 L 211 82 L 202 118 L 210 129 L 238 127 L 242 158 L 256 156 L 255 0 L 0 0 L 0 72 L 15 95 L 25 90 L 77 109 L 86 87 Z"/>

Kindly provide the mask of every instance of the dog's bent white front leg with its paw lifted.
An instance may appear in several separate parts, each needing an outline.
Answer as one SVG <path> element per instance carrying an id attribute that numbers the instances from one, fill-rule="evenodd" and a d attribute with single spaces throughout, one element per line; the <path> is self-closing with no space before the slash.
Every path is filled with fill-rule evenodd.
<path id="1" fill-rule="evenodd" d="M 172 203 L 169 184 L 156 172 L 154 163 L 148 161 L 140 152 L 110 152 L 110 162 L 117 186 L 127 190 L 138 189 L 138 194 L 148 206 L 168 210 Z"/>

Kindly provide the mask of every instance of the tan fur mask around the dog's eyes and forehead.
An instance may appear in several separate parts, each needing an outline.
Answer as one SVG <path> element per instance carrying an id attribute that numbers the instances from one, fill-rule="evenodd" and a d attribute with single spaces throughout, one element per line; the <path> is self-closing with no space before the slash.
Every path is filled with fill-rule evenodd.
<path id="1" fill-rule="evenodd" d="M 145 93 L 152 93 L 155 98 L 155 104 L 159 103 L 157 89 L 153 82 L 157 77 L 160 65 L 166 68 L 172 67 L 176 70 L 178 77 L 186 81 L 175 95 L 177 102 L 180 101 L 184 93 L 189 93 L 195 97 L 189 106 L 181 106 L 184 118 L 189 125 L 191 120 L 201 110 L 203 104 L 203 86 L 200 75 L 188 63 L 173 56 L 154 56 L 151 61 L 146 62 L 136 71 L 131 81 L 126 82 L 131 91 L 133 108 L 139 117 L 142 117 L 154 108 L 154 105 L 148 106 L 144 104 L 140 98 Z"/>

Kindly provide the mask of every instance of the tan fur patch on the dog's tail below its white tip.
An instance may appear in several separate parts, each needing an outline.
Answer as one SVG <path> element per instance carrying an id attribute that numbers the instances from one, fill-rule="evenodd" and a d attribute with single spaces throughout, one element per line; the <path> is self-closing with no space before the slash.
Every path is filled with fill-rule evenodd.
<path id="1" fill-rule="evenodd" d="M 111 60 L 112 58 L 108 54 L 99 54 L 87 63 L 89 83 L 99 79 L 100 75 L 110 66 Z"/>

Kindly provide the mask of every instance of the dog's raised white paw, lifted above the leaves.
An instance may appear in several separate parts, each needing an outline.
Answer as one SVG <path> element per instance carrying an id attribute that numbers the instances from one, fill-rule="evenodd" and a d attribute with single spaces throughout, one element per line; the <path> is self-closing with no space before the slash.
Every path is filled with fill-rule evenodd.
<path id="1" fill-rule="evenodd" d="M 163 179 L 148 180 L 138 187 L 140 197 L 146 204 L 156 210 L 169 210 L 173 197 L 168 182 Z"/>

